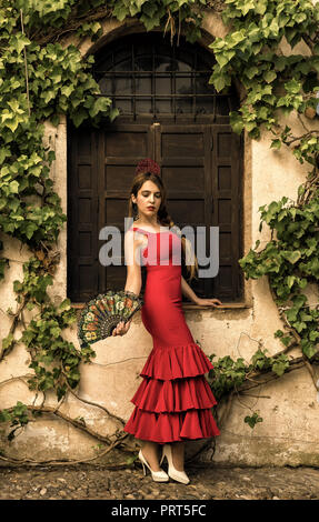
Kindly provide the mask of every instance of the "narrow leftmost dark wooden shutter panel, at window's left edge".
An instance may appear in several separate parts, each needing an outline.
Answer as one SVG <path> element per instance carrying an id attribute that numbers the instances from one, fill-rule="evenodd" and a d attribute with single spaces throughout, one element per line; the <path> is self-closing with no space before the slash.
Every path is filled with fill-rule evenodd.
<path id="1" fill-rule="evenodd" d="M 98 292 L 97 133 L 68 128 L 68 297 L 86 302 Z"/>

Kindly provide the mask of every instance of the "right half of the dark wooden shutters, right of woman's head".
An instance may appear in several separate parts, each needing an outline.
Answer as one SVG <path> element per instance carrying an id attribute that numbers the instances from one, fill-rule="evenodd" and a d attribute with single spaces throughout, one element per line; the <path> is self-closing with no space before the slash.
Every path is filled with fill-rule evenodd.
<path id="1" fill-rule="evenodd" d="M 237 300 L 241 244 L 240 138 L 227 124 L 158 126 L 156 134 L 156 159 L 161 164 L 175 222 L 181 228 L 192 225 L 195 231 L 196 227 L 206 228 L 207 257 L 209 228 L 219 227 L 219 272 L 216 278 L 192 279 L 190 285 L 200 297 Z M 183 273 L 187 279 L 187 271 Z"/>

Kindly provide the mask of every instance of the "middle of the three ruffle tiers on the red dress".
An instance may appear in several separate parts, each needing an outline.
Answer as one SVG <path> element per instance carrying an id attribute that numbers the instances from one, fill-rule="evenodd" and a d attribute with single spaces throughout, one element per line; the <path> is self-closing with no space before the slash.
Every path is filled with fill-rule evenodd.
<path id="1" fill-rule="evenodd" d="M 144 378 L 131 402 L 141 410 L 156 413 L 200 410 L 217 404 L 202 375 L 167 381 Z"/>

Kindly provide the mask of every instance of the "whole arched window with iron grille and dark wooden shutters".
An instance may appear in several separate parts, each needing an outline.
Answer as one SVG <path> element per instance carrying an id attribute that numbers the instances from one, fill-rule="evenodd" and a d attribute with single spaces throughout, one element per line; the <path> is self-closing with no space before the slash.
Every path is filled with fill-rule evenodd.
<path id="1" fill-rule="evenodd" d="M 103 267 L 99 231 L 123 232 L 129 189 L 142 158 L 161 165 L 168 207 L 179 227 L 219 227 L 219 272 L 192 280 L 200 297 L 239 301 L 241 257 L 241 140 L 229 126 L 233 89 L 208 83 L 213 56 L 198 44 L 171 46 L 161 33 L 133 34 L 96 54 L 102 94 L 120 116 L 100 129 L 68 126 L 68 295 L 86 302 L 123 288 L 123 255 Z M 207 234 L 209 239 L 209 234 Z M 123 254 L 123 252 L 122 252 Z M 207 255 L 209 241 L 207 242 Z"/>

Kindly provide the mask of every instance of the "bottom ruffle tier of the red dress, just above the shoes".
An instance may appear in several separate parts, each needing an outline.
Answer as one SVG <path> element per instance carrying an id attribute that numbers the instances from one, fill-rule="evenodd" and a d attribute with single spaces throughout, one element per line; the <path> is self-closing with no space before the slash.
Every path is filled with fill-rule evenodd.
<path id="1" fill-rule="evenodd" d="M 187 439 L 208 439 L 220 434 L 210 409 L 153 413 L 134 408 L 124 430 L 137 439 L 161 444 Z"/>

